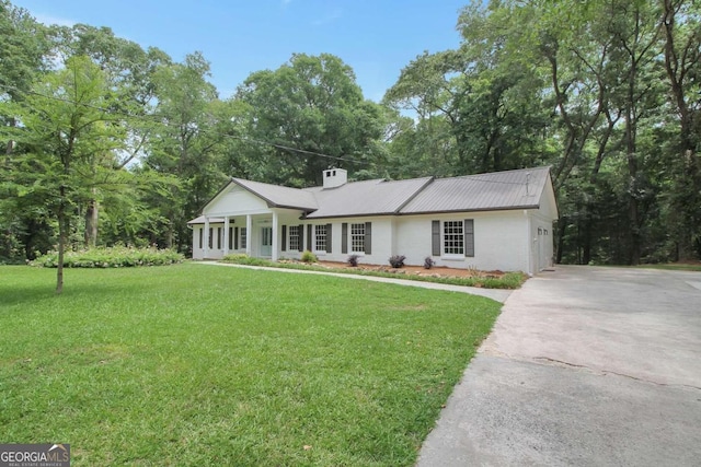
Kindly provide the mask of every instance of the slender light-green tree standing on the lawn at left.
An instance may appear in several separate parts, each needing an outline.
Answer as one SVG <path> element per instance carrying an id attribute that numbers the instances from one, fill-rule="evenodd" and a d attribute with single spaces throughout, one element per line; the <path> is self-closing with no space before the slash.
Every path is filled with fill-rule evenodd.
<path id="1" fill-rule="evenodd" d="M 72 57 L 65 69 L 36 82 L 25 100 L 3 105 L 3 113 L 21 121 L 12 135 L 26 151 L 13 154 L 5 186 L 18 198 L 43 201 L 58 223 L 57 293 L 64 289 L 64 253 L 73 212 L 95 187 L 115 189 L 125 175 L 105 163 L 105 154 L 120 148 L 124 139 L 106 112 L 112 100 L 100 68 L 87 57 Z"/>

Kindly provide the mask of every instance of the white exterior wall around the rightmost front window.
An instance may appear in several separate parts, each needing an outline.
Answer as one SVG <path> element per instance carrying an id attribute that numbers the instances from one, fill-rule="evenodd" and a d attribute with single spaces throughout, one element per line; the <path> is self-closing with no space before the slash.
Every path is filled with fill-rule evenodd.
<path id="1" fill-rule="evenodd" d="M 474 257 L 432 256 L 432 221 L 474 220 Z M 423 266 L 430 256 L 436 266 L 528 272 L 528 218 L 524 211 L 426 214 L 399 218 L 397 254 L 406 265 Z M 441 236 L 443 250 L 443 236 Z"/>

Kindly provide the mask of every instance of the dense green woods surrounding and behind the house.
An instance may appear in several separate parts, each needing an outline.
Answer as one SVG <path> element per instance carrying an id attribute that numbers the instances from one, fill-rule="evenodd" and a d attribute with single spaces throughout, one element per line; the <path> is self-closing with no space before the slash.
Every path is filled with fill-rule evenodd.
<path id="1" fill-rule="evenodd" d="M 701 257 L 701 8 L 694 0 L 474 2 L 458 49 L 381 103 L 333 55 L 294 55 L 230 98 L 110 28 L 0 0 L 0 262 L 156 244 L 230 176 L 304 187 L 552 166 L 559 262 Z M 401 252 L 399 252 L 401 253 Z"/>

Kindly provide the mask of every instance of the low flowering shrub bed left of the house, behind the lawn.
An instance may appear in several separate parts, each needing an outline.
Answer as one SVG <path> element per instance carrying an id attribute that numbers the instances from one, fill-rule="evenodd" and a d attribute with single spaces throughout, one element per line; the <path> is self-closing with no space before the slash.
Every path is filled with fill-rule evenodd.
<path id="1" fill-rule="evenodd" d="M 64 266 L 67 268 L 128 268 L 174 265 L 184 259 L 182 254 L 173 249 L 112 246 L 66 252 Z M 39 255 L 35 260 L 30 261 L 30 265 L 56 268 L 58 267 L 58 252 Z"/>

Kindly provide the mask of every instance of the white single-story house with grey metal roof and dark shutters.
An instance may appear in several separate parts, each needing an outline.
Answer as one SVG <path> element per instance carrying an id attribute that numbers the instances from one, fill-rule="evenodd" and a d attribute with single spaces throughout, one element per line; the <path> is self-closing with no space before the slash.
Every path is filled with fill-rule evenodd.
<path id="1" fill-rule="evenodd" d="M 550 167 L 450 178 L 347 182 L 342 168 L 323 186 L 289 188 L 231 178 L 188 222 L 193 258 L 229 253 L 299 259 L 405 264 L 536 273 L 553 261 L 558 207 Z"/>

